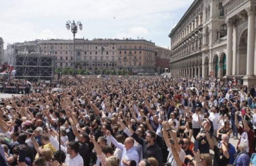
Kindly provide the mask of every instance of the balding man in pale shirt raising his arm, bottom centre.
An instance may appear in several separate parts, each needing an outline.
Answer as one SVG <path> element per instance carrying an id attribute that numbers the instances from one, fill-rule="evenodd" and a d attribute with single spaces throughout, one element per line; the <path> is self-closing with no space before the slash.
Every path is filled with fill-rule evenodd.
<path id="1" fill-rule="evenodd" d="M 114 146 L 123 150 L 120 166 L 127 165 L 128 160 L 134 160 L 136 162 L 136 165 L 138 165 L 139 154 L 136 151 L 136 149 L 133 147 L 134 139 L 131 137 L 128 137 L 125 139 L 124 144 L 121 144 L 121 143 L 118 143 L 116 139 L 114 139 L 114 137 L 110 134 L 110 131 L 107 131 L 107 134 L 108 134 L 108 138 L 111 140 Z"/>

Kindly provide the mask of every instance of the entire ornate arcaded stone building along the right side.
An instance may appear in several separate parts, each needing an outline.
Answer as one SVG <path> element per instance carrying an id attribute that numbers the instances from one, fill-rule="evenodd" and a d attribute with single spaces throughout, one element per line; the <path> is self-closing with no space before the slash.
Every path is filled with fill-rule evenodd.
<path id="1" fill-rule="evenodd" d="M 195 0 L 169 34 L 172 76 L 255 85 L 255 5 L 256 0 Z"/>

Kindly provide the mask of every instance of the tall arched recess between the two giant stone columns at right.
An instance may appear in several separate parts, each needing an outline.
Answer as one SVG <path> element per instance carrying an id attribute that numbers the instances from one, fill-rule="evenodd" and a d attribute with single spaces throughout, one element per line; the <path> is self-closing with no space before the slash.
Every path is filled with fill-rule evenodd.
<path id="1" fill-rule="evenodd" d="M 237 47 L 237 75 L 246 75 L 246 61 L 247 61 L 247 35 L 248 29 L 241 34 L 239 45 Z"/>

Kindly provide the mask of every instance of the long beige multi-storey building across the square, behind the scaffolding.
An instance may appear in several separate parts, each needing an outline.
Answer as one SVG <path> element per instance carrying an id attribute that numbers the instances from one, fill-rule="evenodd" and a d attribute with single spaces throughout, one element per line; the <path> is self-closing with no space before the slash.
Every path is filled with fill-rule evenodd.
<path id="1" fill-rule="evenodd" d="M 35 40 L 8 45 L 9 57 L 29 44 L 39 46 L 43 55 L 53 55 L 55 67 L 86 68 L 90 73 L 118 69 L 129 74 L 155 73 L 155 43 L 143 39 L 75 39 L 75 49 L 73 40 Z"/>

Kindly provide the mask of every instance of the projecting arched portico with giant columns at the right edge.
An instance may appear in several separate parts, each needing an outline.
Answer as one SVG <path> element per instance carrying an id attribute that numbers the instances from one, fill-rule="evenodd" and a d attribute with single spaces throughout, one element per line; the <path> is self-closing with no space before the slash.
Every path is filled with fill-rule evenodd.
<path id="1" fill-rule="evenodd" d="M 256 0 L 224 0 L 227 24 L 227 77 L 256 85 Z"/>

